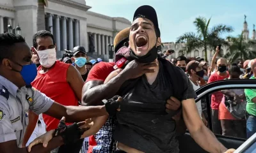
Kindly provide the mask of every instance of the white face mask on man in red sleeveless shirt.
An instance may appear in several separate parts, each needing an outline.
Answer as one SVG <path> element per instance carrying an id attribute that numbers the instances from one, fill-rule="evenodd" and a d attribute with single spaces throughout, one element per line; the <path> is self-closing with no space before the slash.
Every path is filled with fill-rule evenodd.
<path id="1" fill-rule="evenodd" d="M 39 62 L 44 68 L 51 68 L 56 61 L 56 50 L 55 48 L 37 51 Z"/>

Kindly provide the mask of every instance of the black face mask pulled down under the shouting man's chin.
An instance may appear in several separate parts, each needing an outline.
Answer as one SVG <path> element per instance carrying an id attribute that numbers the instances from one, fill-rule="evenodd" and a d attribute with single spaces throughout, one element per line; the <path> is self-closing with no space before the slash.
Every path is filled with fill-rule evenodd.
<path id="1" fill-rule="evenodd" d="M 130 49 L 130 56 L 132 59 L 136 59 L 138 62 L 142 63 L 150 63 L 154 62 L 157 59 L 157 47 L 153 47 L 148 51 L 146 55 L 137 56 L 131 49 Z"/>

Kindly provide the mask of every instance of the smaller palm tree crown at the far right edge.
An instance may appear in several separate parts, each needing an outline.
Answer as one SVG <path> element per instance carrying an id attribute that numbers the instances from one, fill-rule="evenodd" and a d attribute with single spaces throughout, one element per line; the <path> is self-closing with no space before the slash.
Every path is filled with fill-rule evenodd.
<path id="1" fill-rule="evenodd" d="M 243 37 L 243 33 L 237 37 L 228 36 L 227 40 L 230 42 L 230 52 L 224 57 L 229 59 L 230 62 L 236 61 L 236 59 L 252 59 L 256 55 L 256 41 L 248 40 L 246 42 Z"/>

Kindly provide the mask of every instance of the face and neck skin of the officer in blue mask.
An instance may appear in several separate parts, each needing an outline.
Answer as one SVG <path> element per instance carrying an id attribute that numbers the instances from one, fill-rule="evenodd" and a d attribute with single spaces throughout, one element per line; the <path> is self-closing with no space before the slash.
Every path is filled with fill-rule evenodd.
<path id="1" fill-rule="evenodd" d="M 26 85 L 20 71 L 22 66 L 31 64 L 32 54 L 27 43 L 15 43 L 10 50 L 13 50 L 13 56 L 10 59 L 3 59 L 2 67 L 9 76 L 12 76 L 12 82 L 18 87 Z M 8 78 L 9 79 L 9 78 Z"/>

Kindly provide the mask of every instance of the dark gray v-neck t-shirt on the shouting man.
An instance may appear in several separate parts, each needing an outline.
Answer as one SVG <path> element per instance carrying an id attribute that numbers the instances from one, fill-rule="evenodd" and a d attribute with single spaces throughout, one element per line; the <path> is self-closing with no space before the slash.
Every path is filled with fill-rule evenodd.
<path id="1" fill-rule="evenodd" d="M 180 77 L 188 78 L 185 73 L 182 74 L 184 76 Z M 116 114 L 116 141 L 143 152 L 179 152 L 175 120 L 163 119 L 166 115 L 166 100 L 173 96 L 172 85 L 164 84 L 170 82 L 160 62 L 159 73 L 152 85 L 148 84 L 144 75 L 134 89 L 123 96 L 121 111 Z M 180 84 L 188 84 L 182 100 L 196 97 L 189 78 Z M 152 122 L 155 119 L 161 119 L 161 122 Z"/>

